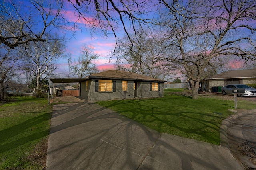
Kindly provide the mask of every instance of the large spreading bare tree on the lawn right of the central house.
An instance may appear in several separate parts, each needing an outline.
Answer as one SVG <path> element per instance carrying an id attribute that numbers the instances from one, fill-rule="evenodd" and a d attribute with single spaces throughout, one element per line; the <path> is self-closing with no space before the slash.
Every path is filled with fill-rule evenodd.
<path id="1" fill-rule="evenodd" d="M 255 62 L 255 0 L 161 3 L 159 36 L 166 48 L 177 51 L 166 59 L 188 76 L 193 99 L 198 98 L 203 72 L 214 59 L 233 55 Z"/>

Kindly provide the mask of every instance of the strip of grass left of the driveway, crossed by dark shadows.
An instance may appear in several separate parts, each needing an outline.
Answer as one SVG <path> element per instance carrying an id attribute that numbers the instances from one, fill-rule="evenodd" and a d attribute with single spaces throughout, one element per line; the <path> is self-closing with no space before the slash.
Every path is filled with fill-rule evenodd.
<path id="1" fill-rule="evenodd" d="M 36 161 L 42 155 L 36 152 L 49 135 L 51 113 L 52 106 L 42 98 L 15 97 L 0 105 L 0 169 L 45 166 Z"/>

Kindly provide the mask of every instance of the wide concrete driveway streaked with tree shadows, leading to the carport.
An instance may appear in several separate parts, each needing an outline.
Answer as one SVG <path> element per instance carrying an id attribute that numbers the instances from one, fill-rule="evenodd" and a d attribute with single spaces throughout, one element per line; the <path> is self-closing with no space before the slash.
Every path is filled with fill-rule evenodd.
<path id="1" fill-rule="evenodd" d="M 242 170 L 227 147 L 160 134 L 98 104 L 55 105 L 47 170 Z"/>

